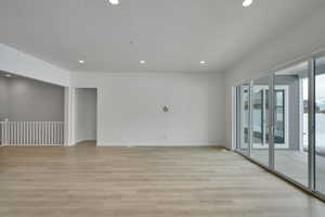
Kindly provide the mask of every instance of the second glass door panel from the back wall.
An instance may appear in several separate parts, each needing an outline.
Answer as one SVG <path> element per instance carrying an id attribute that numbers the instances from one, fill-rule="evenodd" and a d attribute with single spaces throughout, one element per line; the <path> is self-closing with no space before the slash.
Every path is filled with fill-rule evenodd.
<path id="1" fill-rule="evenodd" d="M 270 79 L 271 76 L 265 76 L 253 80 L 251 87 L 251 157 L 265 166 L 269 166 Z"/>

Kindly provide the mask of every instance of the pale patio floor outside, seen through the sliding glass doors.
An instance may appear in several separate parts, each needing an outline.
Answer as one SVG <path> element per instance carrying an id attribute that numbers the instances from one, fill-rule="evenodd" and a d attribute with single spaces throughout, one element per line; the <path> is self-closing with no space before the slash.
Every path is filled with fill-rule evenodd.
<path id="1" fill-rule="evenodd" d="M 268 165 L 269 150 L 251 150 L 252 158 Z M 291 179 L 308 186 L 308 153 L 290 150 L 275 150 L 275 169 Z M 325 157 L 316 155 L 316 187 L 325 193 Z"/>

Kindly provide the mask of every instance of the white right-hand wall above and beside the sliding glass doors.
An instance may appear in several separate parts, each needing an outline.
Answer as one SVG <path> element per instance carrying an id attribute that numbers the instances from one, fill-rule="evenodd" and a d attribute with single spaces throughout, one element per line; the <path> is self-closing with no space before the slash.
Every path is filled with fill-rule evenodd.
<path id="1" fill-rule="evenodd" d="M 226 84 L 226 145 L 232 145 L 232 86 L 247 78 L 257 78 L 274 67 L 280 67 L 315 51 L 325 49 L 325 8 L 285 34 L 270 41 L 245 61 L 225 73 Z"/>

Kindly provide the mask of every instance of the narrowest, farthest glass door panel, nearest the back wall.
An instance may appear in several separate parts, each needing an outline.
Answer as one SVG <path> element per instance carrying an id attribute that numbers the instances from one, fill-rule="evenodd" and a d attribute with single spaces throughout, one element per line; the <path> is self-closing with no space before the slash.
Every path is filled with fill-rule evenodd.
<path id="1" fill-rule="evenodd" d="M 249 142 L 249 84 L 236 88 L 237 91 L 237 150 L 248 155 Z"/>

